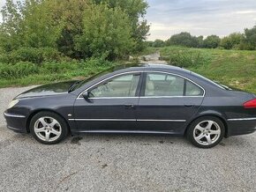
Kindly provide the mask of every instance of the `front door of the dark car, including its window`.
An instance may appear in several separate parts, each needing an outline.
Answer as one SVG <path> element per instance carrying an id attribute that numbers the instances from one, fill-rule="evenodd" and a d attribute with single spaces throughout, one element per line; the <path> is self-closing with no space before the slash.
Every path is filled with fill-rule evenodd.
<path id="1" fill-rule="evenodd" d="M 116 75 L 86 90 L 89 98 L 74 104 L 79 131 L 125 131 L 136 129 L 140 72 Z"/>

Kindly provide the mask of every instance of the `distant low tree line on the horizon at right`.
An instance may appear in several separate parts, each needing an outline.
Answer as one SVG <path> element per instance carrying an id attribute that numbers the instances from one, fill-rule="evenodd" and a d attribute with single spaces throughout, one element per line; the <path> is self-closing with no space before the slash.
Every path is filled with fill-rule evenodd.
<path id="1" fill-rule="evenodd" d="M 244 33 L 230 33 L 220 38 L 209 35 L 205 39 L 202 35 L 193 36 L 191 33 L 182 32 L 172 35 L 167 41 L 147 41 L 148 46 L 161 48 L 165 46 L 183 46 L 187 48 L 224 48 L 237 50 L 256 49 L 256 26 L 245 28 Z"/>

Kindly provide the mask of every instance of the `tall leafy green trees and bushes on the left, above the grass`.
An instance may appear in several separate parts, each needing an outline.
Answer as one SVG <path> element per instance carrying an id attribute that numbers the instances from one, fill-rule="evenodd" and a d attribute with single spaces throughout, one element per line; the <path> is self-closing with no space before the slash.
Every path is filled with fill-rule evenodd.
<path id="1" fill-rule="evenodd" d="M 6 0 L 0 63 L 122 58 L 145 46 L 147 6 L 145 0 Z"/>

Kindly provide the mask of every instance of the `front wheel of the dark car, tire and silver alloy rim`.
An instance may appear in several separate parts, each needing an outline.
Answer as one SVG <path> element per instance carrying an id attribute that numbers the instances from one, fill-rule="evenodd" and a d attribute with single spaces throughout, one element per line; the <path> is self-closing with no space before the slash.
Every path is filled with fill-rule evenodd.
<path id="1" fill-rule="evenodd" d="M 64 119 L 58 114 L 45 111 L 32 117 L 29 129 L 41 144 L 57 144 L 68 134 L 68 126 Z"/>

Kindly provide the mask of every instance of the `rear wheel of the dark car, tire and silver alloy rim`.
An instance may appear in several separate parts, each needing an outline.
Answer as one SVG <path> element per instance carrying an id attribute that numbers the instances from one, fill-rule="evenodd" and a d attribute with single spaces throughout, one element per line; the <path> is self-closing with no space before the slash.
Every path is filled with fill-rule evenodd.
<path id="1" fill-rule="evenodd" d="M 200 148 L 212 148 L 225 135 L 223 122 L 215 116 L 202 116 L 193 121 L 186 132 L 187 139 Z"/>

